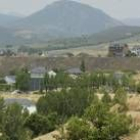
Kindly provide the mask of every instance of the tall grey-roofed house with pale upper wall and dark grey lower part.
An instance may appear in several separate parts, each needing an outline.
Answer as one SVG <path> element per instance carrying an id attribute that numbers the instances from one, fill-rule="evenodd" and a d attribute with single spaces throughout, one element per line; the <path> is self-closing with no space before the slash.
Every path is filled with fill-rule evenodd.
<path id="1" fill-rule="evenodd" d="M 36 67 L 29 71 L 30 73 L 30 90 L 36 91 L 44 89 L 44 76 L 47 70 L 44 67 Z"/>

